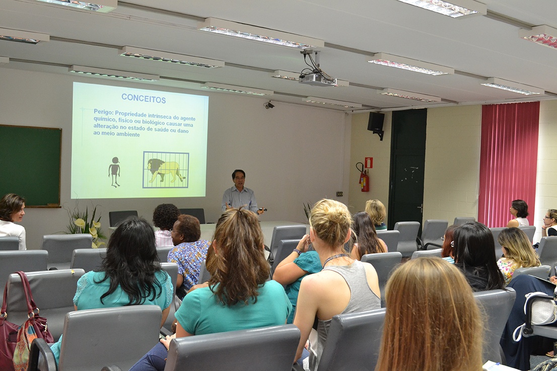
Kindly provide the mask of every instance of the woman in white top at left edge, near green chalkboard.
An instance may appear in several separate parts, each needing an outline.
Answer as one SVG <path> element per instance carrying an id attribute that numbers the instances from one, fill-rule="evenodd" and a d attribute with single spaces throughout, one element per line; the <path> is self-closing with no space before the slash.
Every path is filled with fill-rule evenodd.
<path id="1" fill-rule="evenodd" d="M 8 193 L 0 199 L 0 237 L 17 237 L 19 250 L 27 250 L 25 246 L 25 228 L 16 224 L 25 215 L 25 199 L 15 193 Z"/>

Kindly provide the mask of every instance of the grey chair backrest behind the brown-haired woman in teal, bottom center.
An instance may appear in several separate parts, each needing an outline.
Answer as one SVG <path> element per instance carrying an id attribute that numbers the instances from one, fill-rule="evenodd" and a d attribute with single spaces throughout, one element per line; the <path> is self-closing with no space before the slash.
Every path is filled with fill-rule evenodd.
<path id="1" fill-rule="evenodd" d="M 290 371 L 299 341 L 295 325 L 173 339 L 165 371 Z"/>

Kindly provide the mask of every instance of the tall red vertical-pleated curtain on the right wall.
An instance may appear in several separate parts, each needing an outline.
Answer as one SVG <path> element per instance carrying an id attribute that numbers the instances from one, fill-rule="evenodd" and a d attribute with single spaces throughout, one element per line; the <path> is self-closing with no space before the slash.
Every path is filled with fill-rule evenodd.
<path id="1" fill-rule="evenodd" d="M 528 204 L 534 224 L 540 102 L 482 106 L 478 221 L 505 227 L 511 201 Z"/>

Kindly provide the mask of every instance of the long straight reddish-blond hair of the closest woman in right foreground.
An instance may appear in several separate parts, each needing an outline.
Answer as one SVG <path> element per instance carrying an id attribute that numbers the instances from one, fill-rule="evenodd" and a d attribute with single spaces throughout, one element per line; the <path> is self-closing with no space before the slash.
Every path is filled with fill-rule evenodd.
<path id="1" fill-rule="evenodd" d="M 385 299 L 375 371 L 482 370 L 480 310 L 455 265 L 438 257 L 412 259 L 390 276 Z"/>

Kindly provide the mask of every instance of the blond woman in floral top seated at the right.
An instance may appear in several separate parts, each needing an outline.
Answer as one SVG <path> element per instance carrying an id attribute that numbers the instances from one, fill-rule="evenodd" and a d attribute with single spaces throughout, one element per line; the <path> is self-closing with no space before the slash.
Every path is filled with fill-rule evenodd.
<path id="1" fill-rule="evenodd" d="M 540 259 L 528 236 L 519 228 L 506 228 L 501 231 L 497 242 L 500 243 L 503 257 L 497 260 L 497 266 L 505 277 L 505 286 L 512 280 L 512 274 L 518 268 L 539 267 Z"/>

